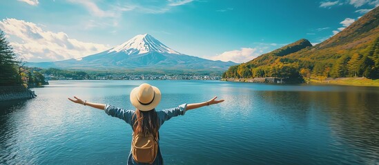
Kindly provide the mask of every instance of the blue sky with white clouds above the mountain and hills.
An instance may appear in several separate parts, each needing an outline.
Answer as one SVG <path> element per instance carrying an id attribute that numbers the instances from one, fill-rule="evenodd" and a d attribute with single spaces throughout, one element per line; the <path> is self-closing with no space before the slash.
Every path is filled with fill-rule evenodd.
<path id="1" fill-rule="evenodd" d="M 148 33 L 177 52 L 247 62 L 299 39 L 316 44 L 379 0 L 8 0 L 0 29 L 26 61 L 102 52 Z"/>

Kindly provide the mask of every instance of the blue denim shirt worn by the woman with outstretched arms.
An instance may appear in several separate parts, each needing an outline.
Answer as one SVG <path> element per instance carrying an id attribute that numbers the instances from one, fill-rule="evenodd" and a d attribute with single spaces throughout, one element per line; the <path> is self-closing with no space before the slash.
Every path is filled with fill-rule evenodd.
<path id="1" fill-rule="evenodd" d="M 162 111 L 157 111 L 159 128 L 160 126 L 162 126 L 162 124 L 165 121 L 178 115 L 184 115 L 184 113 L 186 113 L 186 108 L 187 108 L 187 104 L 181 104 L 178 107 L 175 107 L 172 109 L 164 109 Z M 130 126 L 133 126 L 134 124 L 133 114 L 135 113 L 135 111 L 133 110 L 126 110 L 126 109 L 122 109 L 122 108 L 118 108 L 118 107 L 114 107 L 112 105 L 106 104 L 104 111 L 108 115 L 124 120 L 126 123 L 130 124 Z M 159 144 L 159 141 L 158 141 L 158 144 Z M 141 164 L 134 161 L 131 147 L 130 147 L 130 153 L 128 157 L 128 164 Z M 162 153 L 159 148 L 159 145 L 158 145 L 157 158 L 155 158 L 155 161 L 153 162 L 153 164 L 156 164 L 156 165 L 163 164 Z"/>

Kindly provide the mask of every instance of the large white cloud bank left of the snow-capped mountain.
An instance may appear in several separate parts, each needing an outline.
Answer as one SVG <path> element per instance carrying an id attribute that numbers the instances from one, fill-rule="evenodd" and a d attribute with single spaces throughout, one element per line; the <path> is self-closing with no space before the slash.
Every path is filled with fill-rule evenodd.
<path id="1" fill-rule="evenodd" d="M 30 62 L 58 61 L 80 58 L 108 49 L 108 45 L 86 43 L 71 39 L 64 32 L 43 30 L 35 23 L 17 19 L 3 19 L 0 28 L 17 41 L 10 41 L 13 50 Z"/>

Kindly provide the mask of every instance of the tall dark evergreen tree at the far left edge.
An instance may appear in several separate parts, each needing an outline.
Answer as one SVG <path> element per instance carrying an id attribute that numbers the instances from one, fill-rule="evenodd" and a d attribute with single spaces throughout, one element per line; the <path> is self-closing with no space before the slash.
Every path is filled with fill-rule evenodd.
<path id="1" fill-rule="evenodd" d="M 0 85 L 15 85 L 18 82 L 15 54 L 0 30 Z"/>

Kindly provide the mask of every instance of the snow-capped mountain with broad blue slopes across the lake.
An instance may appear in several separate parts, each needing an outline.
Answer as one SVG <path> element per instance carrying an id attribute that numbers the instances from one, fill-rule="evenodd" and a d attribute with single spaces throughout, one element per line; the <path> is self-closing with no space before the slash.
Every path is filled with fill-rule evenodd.
<path id="1" fill-rule="evenodd" d="M 63 69 L 224 72 L 236 63 L 211 61 L 197 56 L 181 54 L 149 34 L 139 34 L 121 45 L 98 54 L 64 61 L 28 63 L 28 65 L 30 67 Z"/>

